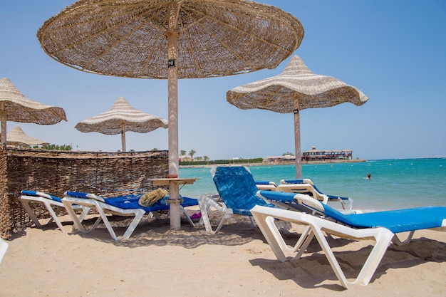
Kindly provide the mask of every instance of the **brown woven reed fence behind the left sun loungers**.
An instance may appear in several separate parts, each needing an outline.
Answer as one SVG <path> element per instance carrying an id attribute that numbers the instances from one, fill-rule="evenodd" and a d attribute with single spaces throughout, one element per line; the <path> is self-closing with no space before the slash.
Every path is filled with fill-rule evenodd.
<path id="1" fill-rule="evenodd" d="M 65 152 L 0 148 L 0 236 L 23 231 L 31 220 L 18 197 L 22 189 L 63 197 L 67 190 L 103 197 L 155 189 L 150 179 L 166 177 L 167 151 Z M 38 218 L 48 217 L 35 204 Z"/>

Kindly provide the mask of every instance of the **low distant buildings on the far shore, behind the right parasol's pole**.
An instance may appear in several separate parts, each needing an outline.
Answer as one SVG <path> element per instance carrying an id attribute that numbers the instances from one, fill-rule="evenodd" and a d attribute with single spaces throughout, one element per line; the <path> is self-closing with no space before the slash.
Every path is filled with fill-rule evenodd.
<path id="1" fill-rule="evenodd" d="M 316 150 L 316 147 L 311 147 L 311 150 L 302 152 L 302 162 L 316 162 L 316 161 L 334 161 L 334 160 L 353 160 L 353 150 Z M 281 164 L 296 162 L 294 155 L 265 157 L 264 164 Z"/>

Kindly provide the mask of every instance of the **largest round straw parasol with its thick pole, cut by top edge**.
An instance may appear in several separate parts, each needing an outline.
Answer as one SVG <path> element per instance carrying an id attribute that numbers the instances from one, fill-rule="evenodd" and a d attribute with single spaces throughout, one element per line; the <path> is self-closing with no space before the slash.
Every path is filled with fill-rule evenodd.
<path id="1" fill-rule="evenodd" d="M 247 0 L 81 0 L 37 33 L 43 51 L 90 73 L 167 78 L 169 177 L 178 176 L 178 78 L 275 68 L 304 28 L 281 9 Z M 170 198 L 179 187 L 170 184 Z M 172 229 L 180 208 L 171 204 Z"/>

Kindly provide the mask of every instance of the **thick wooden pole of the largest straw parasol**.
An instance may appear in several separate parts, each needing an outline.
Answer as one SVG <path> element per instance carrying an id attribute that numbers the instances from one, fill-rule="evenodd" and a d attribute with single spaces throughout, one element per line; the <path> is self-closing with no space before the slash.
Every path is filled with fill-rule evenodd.
<path id="1" fill-rule="evenodd" d="M 168 85 L 168 113 L 169 113 L 169 176 L 178 177 L 178 78 L 177 52 L 178 36 L 177 19 L 180 4 L 170 4 L 169 29 L 167 37 L 167 85 Z M 169 184 L 170 197 L 170 229 L 180 230 L 180 188 L 176 182 Z"/>

